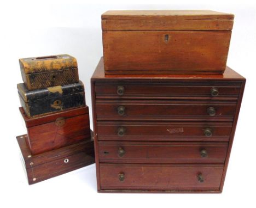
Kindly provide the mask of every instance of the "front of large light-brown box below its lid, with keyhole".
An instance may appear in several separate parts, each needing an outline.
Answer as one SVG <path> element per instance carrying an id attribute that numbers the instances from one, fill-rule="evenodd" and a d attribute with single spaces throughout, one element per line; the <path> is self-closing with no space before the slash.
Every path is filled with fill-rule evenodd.
<path id="1" fill-rule="evenodd" d="M 223 74 L 231 31 L 103 31 L 106 74 Z"/>

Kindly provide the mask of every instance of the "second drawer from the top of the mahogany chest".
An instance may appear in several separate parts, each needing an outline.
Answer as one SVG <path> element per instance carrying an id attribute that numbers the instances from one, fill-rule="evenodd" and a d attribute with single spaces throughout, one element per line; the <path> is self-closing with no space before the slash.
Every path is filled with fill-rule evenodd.
<path id="1" fill-rule="evenodd" d="M 210 107 L 215 115 L 209 115 Z M 96 100 L 98 120 L 232 121 L 235 110 L 235 101 Z"/>

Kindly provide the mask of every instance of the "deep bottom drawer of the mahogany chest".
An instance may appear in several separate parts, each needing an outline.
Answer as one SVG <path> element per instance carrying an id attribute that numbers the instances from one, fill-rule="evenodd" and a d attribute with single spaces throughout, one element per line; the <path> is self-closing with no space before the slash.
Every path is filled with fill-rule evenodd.
<path id="1" fill-rule="evenodd" d="M 218 190 L 222 172 L 222 164 L 100 163 L 100 183 L 113 190 Z"/>

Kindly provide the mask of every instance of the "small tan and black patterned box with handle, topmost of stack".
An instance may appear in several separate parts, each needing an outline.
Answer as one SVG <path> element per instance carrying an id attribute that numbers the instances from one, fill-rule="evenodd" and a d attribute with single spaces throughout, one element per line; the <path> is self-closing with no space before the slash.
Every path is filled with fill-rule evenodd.
<path id="1" fill-rule="evenodd" d="M 77 60 L 68 54 L 22 58 L 19 61 L 28 90 L 79 82 Z"/>

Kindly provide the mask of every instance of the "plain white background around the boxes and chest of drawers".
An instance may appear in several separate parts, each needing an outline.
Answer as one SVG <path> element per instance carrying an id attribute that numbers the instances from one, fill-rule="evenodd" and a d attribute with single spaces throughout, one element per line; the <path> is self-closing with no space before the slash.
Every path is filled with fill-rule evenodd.
<path id="1" fill-rule="evenodd" d="M 0 3 L 0 207 L 256 207 L 255 3 L 249 1 L 8 1 Z M 15 136 L 26 133 L 16 84 L 19 58 L 68 53 L 90 77 L 102 56 L 101 14 L 114 9 L 211 9 L 235 14 L 228 65 L 247 78 L 222 194 L 97 193 L 95 165 L 27 185 Z M 92 124 L 92 120 L 91 120 Z"/>

